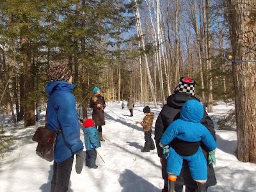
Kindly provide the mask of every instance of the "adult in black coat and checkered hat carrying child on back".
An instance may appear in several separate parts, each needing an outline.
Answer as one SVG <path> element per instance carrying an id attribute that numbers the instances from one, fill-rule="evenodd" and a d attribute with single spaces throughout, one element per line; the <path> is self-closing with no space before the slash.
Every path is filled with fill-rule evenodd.
<path id="1" fill-rule="evenodd" d="M 163 157 L 163 148 L 160 147 L 160 139 L 167 127 L 175 120 L 180 118 L 180 109 L 187 100 L 197 99 L 195 97 L 195 85 L 196 82 L 189 77 L 181 77 L 179 84 L 175 88 L 174 94 L 167 98 L 167 103 L 164 104 L 163 109 L 159 113 L 155 125 L 155 140 L 157 147 L 157 154 L 160 157 L 160 162 L 162 164 L 162 177 L 164 179 L 163 192 L 168 191 L 168 173 L 166 172 L 167 161 Z M 201 124 L 205 125 L 207 129 L 211 132 L 214 140 L 216 140 L 214 126 L 211 118 L 207 115 L 204 110 L 204 116 L 201 120 Z M 173 145 L 179 145 L 179 140 L 174 140 L 170 143 L 170 147 Z M 182 142 L 181 142 L 182 143 Z M 204 152 L 205 159 L 209 157 L 210 150 L 205 147 L 202 143 L 202 152 Z M 206 187 L 216 185 L 217 181 L 215 178 L 214 168 L 212 164 L 207 164 L 207 182 Z M 186 192 L 195 192 L 197 184 L 195 180 L 192 179 L 191 173 L 189 171 L 188 161 L 184 160 L 182 164 L 182 170 L 180 175 L 177 177 L 175 183 L 175 192 L 182 192 L 183 186 L 186 186 Z"/>

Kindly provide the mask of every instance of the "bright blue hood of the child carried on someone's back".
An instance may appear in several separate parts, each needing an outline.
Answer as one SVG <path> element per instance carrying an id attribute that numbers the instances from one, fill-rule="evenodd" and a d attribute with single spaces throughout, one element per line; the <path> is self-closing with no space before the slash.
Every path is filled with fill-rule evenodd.
<path id="1" fill-rule="evenodd" d="M 180 119 L 186 122 L 200 123 L 204 116 L 202 104 L 195 99 L 188 100 L 180 110 Z"/>

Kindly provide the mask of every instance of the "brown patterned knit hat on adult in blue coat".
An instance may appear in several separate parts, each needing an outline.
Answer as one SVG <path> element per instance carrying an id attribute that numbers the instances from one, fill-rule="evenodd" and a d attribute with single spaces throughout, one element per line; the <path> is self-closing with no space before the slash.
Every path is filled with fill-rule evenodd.
<path id="1" fill-rule="evenodd" d="M 70 69 L 64 65 L 54 65 L 48 70 L 49 80 L 52 81 L 68 81 L 70 76 Z"/>

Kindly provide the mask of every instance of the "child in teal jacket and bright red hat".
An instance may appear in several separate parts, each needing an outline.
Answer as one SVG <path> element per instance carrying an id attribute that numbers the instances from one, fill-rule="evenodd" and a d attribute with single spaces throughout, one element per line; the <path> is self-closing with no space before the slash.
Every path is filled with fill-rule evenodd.
<path id="1" fill-rule="evenodd" d="M 84 126 L 84 143 L 86 147 L 86 166 L 89 168 L 97 169 L 98 166 L 95 164 L 97 152 L 96 148 L 100 147 L 99 131 L 95 127 L 91 118 L 83 122 Z"/>

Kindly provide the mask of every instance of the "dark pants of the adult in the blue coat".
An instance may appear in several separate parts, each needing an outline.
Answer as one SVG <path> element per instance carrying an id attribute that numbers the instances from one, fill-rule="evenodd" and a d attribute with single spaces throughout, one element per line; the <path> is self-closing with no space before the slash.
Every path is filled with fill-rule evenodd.
<path id="1" fill-rule="evenodd" d="M 74 156 L 69 157 L 67 160 L 53 163 L 53 175 L 51 182 L 51 192 L 66 192 L 68 191 L 68 184 Z"/>

